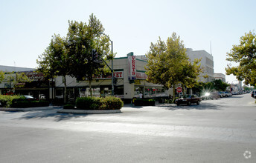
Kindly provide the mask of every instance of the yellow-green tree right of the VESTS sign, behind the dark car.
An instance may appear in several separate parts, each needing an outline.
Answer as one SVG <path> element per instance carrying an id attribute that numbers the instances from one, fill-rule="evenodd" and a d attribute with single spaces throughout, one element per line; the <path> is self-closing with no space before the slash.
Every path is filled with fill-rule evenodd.
<path id="1" fill-rule="evenodd" d="M 191 64 L 183 41 L 176 33 L 173 33 L 166 43 L 161 41 L 160 37 L 156 44 L 151 43 L 146 56 L 148 82 L 162 84 L 167 88 L 174 88 L 179 83 L 186 87 L 196 84 L 196 78 L 201 72 L 200 65 L 197 65 L 199 60 Z"/>

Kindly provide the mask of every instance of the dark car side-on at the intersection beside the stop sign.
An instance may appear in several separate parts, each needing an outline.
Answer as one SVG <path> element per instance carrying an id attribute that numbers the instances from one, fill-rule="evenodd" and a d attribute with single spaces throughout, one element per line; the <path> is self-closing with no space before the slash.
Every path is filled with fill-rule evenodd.
<path id="1" fill-rule="evenodd" d="M 185 95 L 179 99 L 176 99 L 175 103 L 177 104 L 177 106 L 179 106 L 179 104 L 187 104 L 187 105 L 200 104 L 201 101 L 202 101 L 202 98 L 200 98 L 199 96 Z"/>

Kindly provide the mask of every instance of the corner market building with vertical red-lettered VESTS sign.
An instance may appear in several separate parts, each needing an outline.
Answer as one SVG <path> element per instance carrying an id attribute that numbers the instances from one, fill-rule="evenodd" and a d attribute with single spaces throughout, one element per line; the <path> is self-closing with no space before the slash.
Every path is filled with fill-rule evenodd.
<path id="1" fill-rule="evenodd" d="M 107 64 L 111 65 L 111 61 Z M 114 94 L 121 99 L 129 101 L 133 97 L 138 97 L 139 93 L 144 98 L 152 98 L 157 96 L 168 96 L 164 87 L 160 84 L 147 82 L 147 74 L 145 66 L 147 60 L 133 56 L 133 53 L 127 54 L 127 57 L 115 58 L 114 76 L 118 79 L 114 87 Z M 89 96 L 89 82 L 77 81 L 75 78 L 66 76 L 67 90 L 69 97 Z M 56 79 L 56 95 L 63 96 L 64 84 L 63 77 Z M 92 95 L 98 97 L 112 95 L 112 76 L 97 76 L 92 82 Z"/>

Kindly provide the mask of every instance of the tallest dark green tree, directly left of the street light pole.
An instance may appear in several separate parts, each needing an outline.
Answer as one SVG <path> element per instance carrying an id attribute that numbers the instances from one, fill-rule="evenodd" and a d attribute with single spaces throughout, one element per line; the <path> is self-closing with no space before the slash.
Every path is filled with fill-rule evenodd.
<path id="1" fill-rule="evenodd" d="M 89 24 L 69 21 L 65 48 L 72 59 L 70 75 L 80 80 L 87 79 L 91 96 L 94 76 L 106 70 L 106 65 L 100 59 L 110 56 L 109 39 L 100 36 L 103 31 L 103 25 L 93 14 L 90 16 Z M 93 50 L 97 51 L 97 61 L 92 59 Z"/>

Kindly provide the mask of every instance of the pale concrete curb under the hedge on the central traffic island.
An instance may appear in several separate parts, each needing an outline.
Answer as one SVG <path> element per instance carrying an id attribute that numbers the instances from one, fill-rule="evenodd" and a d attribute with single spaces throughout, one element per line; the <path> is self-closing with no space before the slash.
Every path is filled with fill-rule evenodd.
<path id="1" fill-rule="evenodd" d="M 77 113 L 77 114 L 106 114 L 106 113 L 121 113 L 121 110 L 74 110 L 63 109 L 57 110 L 57 113 Z"/>

